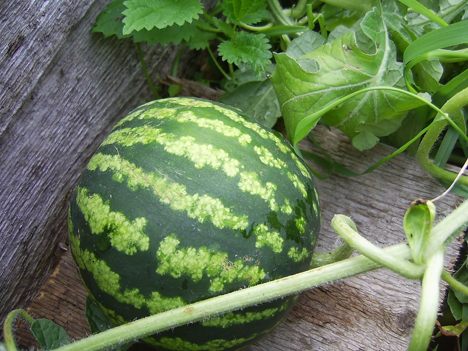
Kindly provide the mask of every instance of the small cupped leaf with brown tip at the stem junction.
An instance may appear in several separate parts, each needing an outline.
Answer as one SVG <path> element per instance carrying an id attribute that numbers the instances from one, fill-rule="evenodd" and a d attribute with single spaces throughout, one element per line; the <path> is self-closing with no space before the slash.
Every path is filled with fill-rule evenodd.
<path id="1" fill-rule="evenodd" d="M 424 246 L 434 225 L 435 215 L 436 208 L 430 200 L 417 200 L 403 217 L 403 229 L 416 264 L 424 263 Z"/>

